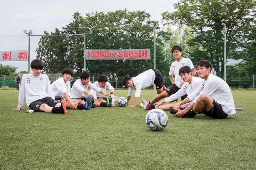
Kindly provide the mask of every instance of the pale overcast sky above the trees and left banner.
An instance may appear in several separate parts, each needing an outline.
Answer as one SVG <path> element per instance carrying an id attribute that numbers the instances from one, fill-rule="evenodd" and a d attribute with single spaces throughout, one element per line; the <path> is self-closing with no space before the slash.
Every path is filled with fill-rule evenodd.
<path id="1" fill-rule="evenodd" d="M 27 50 L 28 37 L 23 30 L 32 30 L 33 34 L 42 35 L 46 30 L 61 29 L 72 22 L 72 15 L 79 11 L 86 13 L 104 13 L 124 10 L 145 11 L 151 20 L 160 21 L 161 13 L 173 12 L 173 4 L 178 0 L 1 0 L 0 2 L 0 51 Z M 31 36 L 31 61 L 35 59 L 39 36 Z M 0 62 L 18 67 L 17 71 L 28 70 L 28 62 Z"/>

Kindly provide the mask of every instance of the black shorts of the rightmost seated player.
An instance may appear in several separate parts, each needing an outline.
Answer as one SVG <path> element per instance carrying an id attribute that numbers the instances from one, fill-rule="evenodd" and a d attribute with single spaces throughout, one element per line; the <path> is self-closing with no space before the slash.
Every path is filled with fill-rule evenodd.
<path id="1" fill-rule="evenodd" d="M 203 114 L 206 116 L 210 116 L 214 119 L 225 119 L 228 114 L 226 114 L 223 110 L 222 110 L 222 106 L 220 104 L 218 104 L 215 100 L 213 100 L 212 102 L 213 107 L 210 111 L 205 111 L 205 109 L 203 109 Z"/>

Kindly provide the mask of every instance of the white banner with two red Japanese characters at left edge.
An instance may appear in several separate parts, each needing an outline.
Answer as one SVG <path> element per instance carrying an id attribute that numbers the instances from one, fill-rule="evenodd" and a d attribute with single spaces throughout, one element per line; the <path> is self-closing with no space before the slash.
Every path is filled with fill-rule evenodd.
<path id="1" fill-rule="evenodd" d="M 28 50 L 0 51 L 0 61 L 28 61 Z"/>

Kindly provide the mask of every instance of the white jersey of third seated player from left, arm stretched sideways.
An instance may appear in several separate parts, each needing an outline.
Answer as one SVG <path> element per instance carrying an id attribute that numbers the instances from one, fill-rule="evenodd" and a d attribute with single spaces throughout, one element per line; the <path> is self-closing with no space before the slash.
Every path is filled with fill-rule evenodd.
<path id="1" fill-rule="evenodd" d="M 81 79 L 77 79 L 73 84 L 70 92 L 70 99 L 82 99 L 84 98 L 84 90 L 91 88 L 97 92 L 100 92 L 100 88 L 96 87 L 93 83 L 89 82 L 88 84 L 83 85 Z"/>

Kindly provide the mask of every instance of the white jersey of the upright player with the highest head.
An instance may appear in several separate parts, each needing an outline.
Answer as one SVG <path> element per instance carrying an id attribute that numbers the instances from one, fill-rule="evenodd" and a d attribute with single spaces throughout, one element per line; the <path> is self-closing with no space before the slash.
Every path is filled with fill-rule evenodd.
<path id="1" fill-rule="evenodd" d="M 191 62 L 191 60 L 189 58 L 183 58 L 182 57 L 181 61 L 179 61 L 179 62 L 175 61 L 175 62 L 173 62 L 171 64 L 171 68 L 170 68 L 170 71 L 169 71 L 169 75 L 173 75 L 174 74 L 174 76 L 175 76 L 175 78 L 174 78 L 175 84 L 179 88 L 180 88 L 181 82 L 183 82 L 183 80 L 180 77 L 179 70 L 180 70 L 181 67 L 184 67 L 184 66 L 189 66 L 191 70 L 193 68 L 195 68 L 193 66 L 193 63 Z"/>

